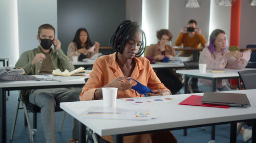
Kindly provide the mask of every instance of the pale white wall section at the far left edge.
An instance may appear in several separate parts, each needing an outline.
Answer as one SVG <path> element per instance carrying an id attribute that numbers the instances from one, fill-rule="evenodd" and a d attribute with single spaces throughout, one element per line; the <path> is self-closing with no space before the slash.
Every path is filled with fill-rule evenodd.
<path id="1" fill-rule="evenodd" d="M 0 19 L 0 58 L 12 57 L 9 66 L 13 67 L 18 59 L 17 0 L 0 1 Z"/>

